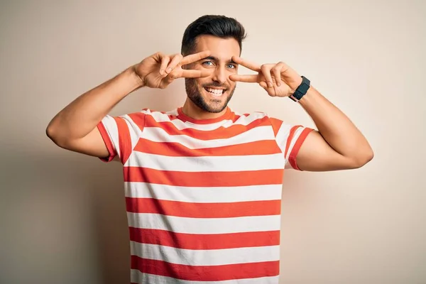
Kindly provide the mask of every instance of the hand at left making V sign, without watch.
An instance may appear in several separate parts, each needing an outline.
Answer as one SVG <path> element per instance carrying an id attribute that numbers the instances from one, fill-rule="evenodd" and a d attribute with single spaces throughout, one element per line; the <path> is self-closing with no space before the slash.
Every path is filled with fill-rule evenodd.
<path id="1" fill-rule="evenodd" d="M 155 53 L 133 66 L 133 70 L 141 78 L 141 87 L 164 89 L 178 78 L 200 78 L 209 76 L 208 70 L 187 70 L 187 65 L 210 55 L 209 50 L 183 57 L 180 54 L 164 55 Z"/>

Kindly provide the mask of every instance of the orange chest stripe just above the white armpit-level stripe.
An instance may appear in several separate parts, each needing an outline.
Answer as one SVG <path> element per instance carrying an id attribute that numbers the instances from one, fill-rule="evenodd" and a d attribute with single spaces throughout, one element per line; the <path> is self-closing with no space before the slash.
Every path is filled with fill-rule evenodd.
<path id="1" fill-rule="evenodd" d="M 178 142 L 153 142 L 140 138 L 134 151 L 174 157 L 270 155 L 281 153 L 275 140 L 263 140 L 215 148 L 190 149 Z"/>

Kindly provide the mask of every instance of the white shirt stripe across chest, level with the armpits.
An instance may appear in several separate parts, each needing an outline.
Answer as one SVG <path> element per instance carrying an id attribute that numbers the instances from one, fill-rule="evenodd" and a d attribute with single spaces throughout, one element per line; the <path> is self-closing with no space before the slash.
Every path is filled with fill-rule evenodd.
<path id="1" fill-rule="evenodd" d="M 243 170 L 283 169 L 284 162 L 282 153 L 270 155 L 170 157 L 134 151 L 129 157 L 126 166 L 182 172 L 240 172 Z"/>

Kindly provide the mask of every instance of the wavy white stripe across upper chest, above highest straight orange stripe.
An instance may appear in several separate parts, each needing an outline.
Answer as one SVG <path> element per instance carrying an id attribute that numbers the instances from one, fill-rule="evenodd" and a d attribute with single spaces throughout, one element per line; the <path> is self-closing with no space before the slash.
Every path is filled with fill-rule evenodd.
<path id="1" fill-rule="evenodd" d="M 271 126 L 258 126 L 240 133 L 237 136 L 223 139 L 200 140 L 186 135 L 169 135 L 158 127 L 146 127 L 143 130 L 142 138 L 153 142 L 177 142 L 190 149 L 214 148 L 231 146 L 254 141 L 274 140 L 275 136 Z"/>

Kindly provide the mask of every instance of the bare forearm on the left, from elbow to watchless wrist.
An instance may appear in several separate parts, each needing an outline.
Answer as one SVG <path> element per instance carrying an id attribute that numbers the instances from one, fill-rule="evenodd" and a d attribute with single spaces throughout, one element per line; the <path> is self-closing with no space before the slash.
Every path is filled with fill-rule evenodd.
<path id="1" fill-rule="evenodd" d="M 78 139 L 92 131 L 99 121 L 124 97 L 141 86 L 132 67 L 111 80 L 80 95 L 60 111 L 48 125 L 48 136 L 58 139 Z"/>

